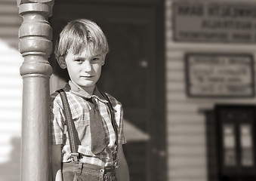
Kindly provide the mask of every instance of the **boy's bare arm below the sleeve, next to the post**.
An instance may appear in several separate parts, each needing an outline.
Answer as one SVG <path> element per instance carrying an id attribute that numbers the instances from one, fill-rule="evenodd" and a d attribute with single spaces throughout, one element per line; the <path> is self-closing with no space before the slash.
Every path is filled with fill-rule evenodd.
<path id="1" fill-rule="evenodd" d="M 61 145 L 51 146 L 52 176 L 53 181 L 62 181 L 61 171 Z"/>

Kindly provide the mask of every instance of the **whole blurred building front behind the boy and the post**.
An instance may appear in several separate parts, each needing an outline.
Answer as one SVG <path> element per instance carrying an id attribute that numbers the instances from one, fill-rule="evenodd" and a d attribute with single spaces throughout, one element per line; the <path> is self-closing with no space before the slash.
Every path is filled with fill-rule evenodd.
<path id="1" fill-rule="evenodd" d="M 9 47 L 0 50 L 8 54 L 0 124 L 9 127 L 0 131 L 0 180 L 20 174 L 19 166 L 8 172 L 11 163 L 20 165 L 19 3 L 0 1 L 0 38 Z M 53 44 L 76 18 L 94 20 L 106 33 L 110 52 L 98 86 L 124 106 L 131 180 L 254 180 L 255 12 L 254 0 L 54 2 Z M 52 55 L 49 62 L 54 92 L 68 77 Z"/>

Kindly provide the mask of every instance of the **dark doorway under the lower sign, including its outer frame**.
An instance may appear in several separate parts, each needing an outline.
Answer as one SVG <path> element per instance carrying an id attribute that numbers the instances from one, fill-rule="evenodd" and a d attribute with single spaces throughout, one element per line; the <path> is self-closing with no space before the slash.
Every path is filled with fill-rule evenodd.
<path id="1" fill-rule="evenodd" d="M 255 106 L 216 105 L 205 112 L 210 181 L 254 181 Z"/>

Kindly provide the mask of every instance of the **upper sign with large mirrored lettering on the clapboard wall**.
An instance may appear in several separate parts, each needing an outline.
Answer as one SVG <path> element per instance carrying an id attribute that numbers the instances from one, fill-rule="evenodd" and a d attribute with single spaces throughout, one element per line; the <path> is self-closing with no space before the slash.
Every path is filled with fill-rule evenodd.
<path id="1" fill-rule="evenodd" d="M 256 2 L 173 4 L 174 41 L 256 43 Z"/>

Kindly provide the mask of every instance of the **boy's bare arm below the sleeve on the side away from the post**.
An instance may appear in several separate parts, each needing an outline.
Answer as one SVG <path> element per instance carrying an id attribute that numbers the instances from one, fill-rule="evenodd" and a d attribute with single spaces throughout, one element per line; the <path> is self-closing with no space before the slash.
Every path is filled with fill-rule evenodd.
<path id="1" fill-rule="evenodd" d="M 125 154 L 122 149 L 122 144 L 119 145 L 119 167 L 116 169 L 116 179 L 117 181 L 130 181 L 128 164 L 125 159 Z"/>

